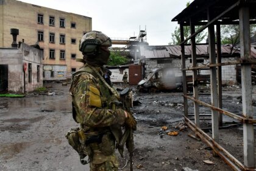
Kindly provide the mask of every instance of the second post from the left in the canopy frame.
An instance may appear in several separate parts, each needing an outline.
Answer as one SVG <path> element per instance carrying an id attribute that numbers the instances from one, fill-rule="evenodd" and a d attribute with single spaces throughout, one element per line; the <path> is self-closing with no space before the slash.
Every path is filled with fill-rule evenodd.
<path id="1" fill-rule="evenodd" d="M 195 32 L 194 24 L 190 19 L 190 33 L 193 35 Z M 191 37 L 191 58 L 192 58 L 192 66 L 196 66 L 196 37 Z M 198 83 L 197 83 L 197 70 L 193 70 L 193 92 L 194 92 L 194 99 L 198 99 Z M 200 127 L 199 123 L 199 105 L 198 103 L 194 102 L 194 123 L 197 127 Z"/>

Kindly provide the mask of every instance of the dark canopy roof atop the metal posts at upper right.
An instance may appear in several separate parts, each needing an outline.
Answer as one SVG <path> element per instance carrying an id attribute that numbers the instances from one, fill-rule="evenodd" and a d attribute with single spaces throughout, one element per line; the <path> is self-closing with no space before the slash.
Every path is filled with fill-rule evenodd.
<path id="1" fill-rule="evenodd" d="M 220 15 L 225 10 L 229 9 L 229 7 L 233 4 L 236 4 L 235 7 L 229 12 L 225 13 L 218 19 L 218 24 L 238 24 L 237 20 L 239 20 L 238 15 L 238 6 L 243 4 L 244 1 L 249 6 L 250 10 L 250 19 L 254 21 L 256 19 L 256 1 L 255 0 L 197 0 L 193 1 L 186 9 L 180 12 L 177 16 L 175 16 L 172 21 L 177 21 L 179 24 L 183 24 L 183 26 L 190 25 L 190 19 L 192 19 L 193 23 L 196 25 L 205 25 L 204 21 L 207 21 L 207 9 L 212 10 L 212 16 L 215 18 Z M 202 23 L 202 24 L 200 24 Z"/>

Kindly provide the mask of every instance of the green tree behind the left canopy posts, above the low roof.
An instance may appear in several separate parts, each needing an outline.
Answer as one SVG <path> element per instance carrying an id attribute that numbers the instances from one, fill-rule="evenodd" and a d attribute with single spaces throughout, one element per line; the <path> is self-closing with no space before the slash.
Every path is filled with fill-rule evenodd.
<path id="1" fill-rule="evenodd" d="M 188 5 L 190 5 L 190 2 L 187 2 L 187 7 Z M 190 26 L 184 26 L 184 38 L 187 39 L 188 37 L 190 37 Z M 195 30 L 197 31 L 198 29 L 200 29 L 200 26 L 195 26 Z M 168 43 L 169 45 L 179 45 L 181 43 L 180 41 L 180 27 L 177 26 L 174 30 L 173 33 L 171 33 L 172 36 L 172 42 Z M 204 38 L 207 36 L 207 33 L 202 31 L 200 33 L 198 33 L 196 35 L 196 43 L 201 43 Z M 188 41 L 187 43 L 190 43 L 190 41 Z"/>

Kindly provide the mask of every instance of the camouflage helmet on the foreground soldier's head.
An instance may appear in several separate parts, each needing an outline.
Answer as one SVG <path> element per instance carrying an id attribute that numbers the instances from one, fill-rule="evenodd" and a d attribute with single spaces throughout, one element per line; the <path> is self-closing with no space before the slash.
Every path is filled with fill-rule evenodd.
<path id="1" fill-rule="evenodd" d="M 96 54 L 99 46 L 112 46 L 112 41 L 107 35 L 98 31 L 86 33 L 80 40 L 79 51 L 84 55 Z"/>

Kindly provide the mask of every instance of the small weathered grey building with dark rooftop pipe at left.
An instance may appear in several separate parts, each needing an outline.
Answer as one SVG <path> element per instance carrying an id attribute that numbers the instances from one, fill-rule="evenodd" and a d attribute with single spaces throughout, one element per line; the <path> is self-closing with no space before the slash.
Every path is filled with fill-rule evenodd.
<path id="1" fill-rule="evenodd" d="M 11 32 L 18 34 L 18 29 Z M 15 35 L 14 35 L 15 36 Z M 26 93 L 43 86 L 43 51 L 26 43 L 0 48 L 0 92 Z"/>

